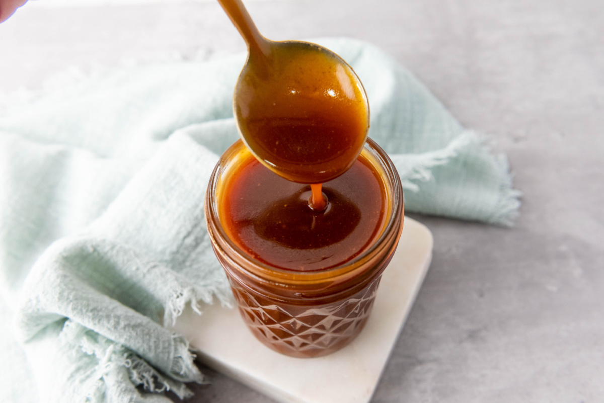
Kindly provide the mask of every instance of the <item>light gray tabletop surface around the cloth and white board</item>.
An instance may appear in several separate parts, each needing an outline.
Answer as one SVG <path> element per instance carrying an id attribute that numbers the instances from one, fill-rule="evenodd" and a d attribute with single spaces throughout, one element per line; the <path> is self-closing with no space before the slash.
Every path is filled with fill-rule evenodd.
<path id="1" fill-rule="evenodd" d="M 44 1 L 0 25 L 0 90 L 39 88 L 71 65 L 245 49 L 216 2 Z M 350 36 L 389 52 L 490 135 L 524 192 L 514 229 L 413 215 L 434 260 L 372 402 L 602 402 L 604 2 L 246 4 L 271 39 Z M 193 402 L 269 401 L 204 372 Z"/>

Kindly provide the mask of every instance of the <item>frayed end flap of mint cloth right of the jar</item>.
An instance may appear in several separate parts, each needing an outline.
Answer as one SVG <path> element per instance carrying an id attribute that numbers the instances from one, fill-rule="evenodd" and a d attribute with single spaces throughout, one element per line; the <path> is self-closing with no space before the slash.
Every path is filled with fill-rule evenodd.
<path id="1" fill-rule="evenodd" d="M 465 130 L 440 150 L 392 155 L 407 191 L 405 209 L 434 214 L 431 205 L 439 200 L 440 215 L 513 226 L 521 192 L 513 189 L 506 156 L 492 156 L 484 139 Z M 444 197 L 464 201 L 442 203 Z"/>

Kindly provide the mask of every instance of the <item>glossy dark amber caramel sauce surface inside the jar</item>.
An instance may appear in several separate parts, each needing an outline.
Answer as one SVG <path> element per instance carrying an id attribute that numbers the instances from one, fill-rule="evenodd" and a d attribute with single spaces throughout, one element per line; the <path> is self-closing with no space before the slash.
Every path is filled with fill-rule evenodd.
<path id="1" fill-rule="evenodd" d="M 248 155 L 225 184 L 219 215 L 229 238 L 253 258 L 285 270 L 326 270 L 380 235 L 385 185 L 364 157 L 323 184 L 327 208 L 313 211 L 309 185 L 285 180 Z"/>

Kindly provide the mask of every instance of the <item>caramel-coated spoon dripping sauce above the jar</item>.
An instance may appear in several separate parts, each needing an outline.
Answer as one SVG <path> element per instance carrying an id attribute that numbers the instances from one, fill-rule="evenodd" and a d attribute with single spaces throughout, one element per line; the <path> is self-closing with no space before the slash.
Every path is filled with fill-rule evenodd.
<path id="1" fill-rule="evenodd" d="M 233 95 L 243 142 L 278 175 L 313 184 L 309 204 L 321 210 L 321 183 L 348 170 L 367 138 L 361 81 L 322 46 L 263 37 L 241 0 L 218 1 L 248 45 Z"/>

